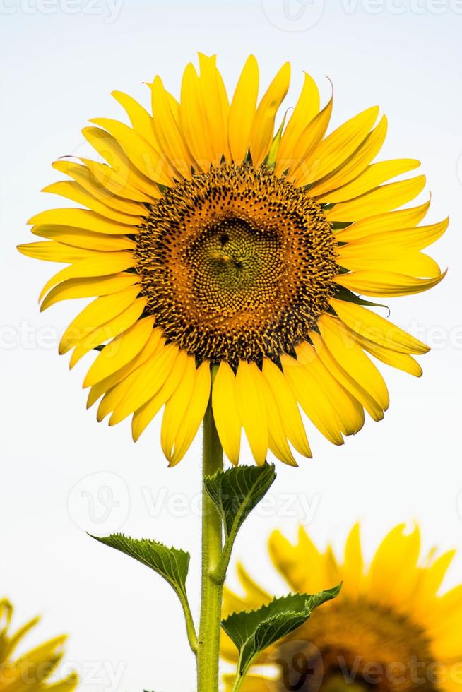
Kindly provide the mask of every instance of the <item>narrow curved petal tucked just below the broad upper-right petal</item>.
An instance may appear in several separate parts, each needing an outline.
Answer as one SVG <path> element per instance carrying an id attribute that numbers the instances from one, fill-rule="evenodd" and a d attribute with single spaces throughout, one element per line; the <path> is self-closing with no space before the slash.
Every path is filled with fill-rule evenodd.
<path id="1" fill-rule="evenodd" d="M 346 185 L 360 175 L 381 150 L 381 145 L 386 137 L 386 129 L 387 120 L 385 116 L 382 116 L 377 127 L 367 135 L 365 141 L 361 143 L 348 161 L 345 161 L 340 169 L 310 187 L 310 194 L 313 196 L 322 195 Z"/>

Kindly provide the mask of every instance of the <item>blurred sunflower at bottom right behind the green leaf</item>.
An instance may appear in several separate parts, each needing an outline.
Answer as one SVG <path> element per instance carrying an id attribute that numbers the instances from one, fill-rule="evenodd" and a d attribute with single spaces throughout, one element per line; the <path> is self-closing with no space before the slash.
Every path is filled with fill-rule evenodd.
<path id="1" fill-rule="evenodd" d="M 250 674 L 242 692 L 459 691 L 462 686 L 462 585 L 441 594 L 454 551 L 421 559 L 418 527 L 394 528 L 365 568 L 356 525 L 338 561 L 323 553 L 300 528 L 291 544 L 276 531 L 271 559 L 292 590 L 316 592 L 343 580 L 338 599 L 312 614 L 292 635 L 279 640 L 256 661 L 268 674 Z M 228 591 L 228 612 L 254 609 L 271 600 L 239 566 L 245 595 Z M 223 638 L 222 654 L 236 661 Z M 275 676 L 274 670 L 277 673 Z M 261 668 L 260 668 L 261 670 Z M 226 676 L 226 689 L 232 688 Z"/>

